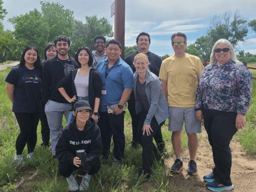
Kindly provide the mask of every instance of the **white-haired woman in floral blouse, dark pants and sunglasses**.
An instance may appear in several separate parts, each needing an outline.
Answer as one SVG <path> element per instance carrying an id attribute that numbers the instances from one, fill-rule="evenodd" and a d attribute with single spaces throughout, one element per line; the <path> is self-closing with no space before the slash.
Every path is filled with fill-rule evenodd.
<path id="1" fill-rule="evenodd" d="M 245 127 L 251 96 L 250 71 L 237 60 L 228 40 L 218 40 L 213 46 L 210 64 L 201 73 L 195 105 L 196 118 L 204 120 L 215 164 L 213 172 L 203 177 L 209 190 L 234 188 L 230 179 L 229 143 L 236 131 Z"/>

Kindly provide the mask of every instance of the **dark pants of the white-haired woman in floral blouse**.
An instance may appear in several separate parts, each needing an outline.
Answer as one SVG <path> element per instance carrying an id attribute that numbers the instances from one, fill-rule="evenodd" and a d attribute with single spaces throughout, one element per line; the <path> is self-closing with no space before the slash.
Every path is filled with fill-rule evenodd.
<path id="1" fill-rule="evenodd" d="M 235 112 L 203 110 L 204 127 L 212 146 L 215 181 L 225 186 L 232 185 L 230 179 L 232 158 L 229 143 L 237 131 L 235 127 L 236 115 Z"/>

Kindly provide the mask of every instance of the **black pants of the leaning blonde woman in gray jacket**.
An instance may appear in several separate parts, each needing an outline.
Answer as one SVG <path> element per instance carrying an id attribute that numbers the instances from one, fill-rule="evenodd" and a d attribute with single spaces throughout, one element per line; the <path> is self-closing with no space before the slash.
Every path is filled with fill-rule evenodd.
<path id="1" fill-rule="evenodd" d="M 154 135 L 161 129 L 161 125 L 158 125 L 158 122 L 155 117 L 152 118 L 151 120 L 151 128 L 153 132 L 151 132 L 151 135 L 147 135 L 146 131 L 143 135 L 143 125 L 144 121 L 147 117 L 148 112 L 143 110 L 140 113 L 140 119 L 139 119 L 139 126 L 138 126 L 138 140 L 140 145 L 142 146 L 142 168 L 149 173 L 151 173 L 151 166 L 153 163 L 153 157 L 156 158 L 156 160 L 160 160 L 161 155 L 156 148 L 156 146 L 153 143 L 153 137 Z"/>

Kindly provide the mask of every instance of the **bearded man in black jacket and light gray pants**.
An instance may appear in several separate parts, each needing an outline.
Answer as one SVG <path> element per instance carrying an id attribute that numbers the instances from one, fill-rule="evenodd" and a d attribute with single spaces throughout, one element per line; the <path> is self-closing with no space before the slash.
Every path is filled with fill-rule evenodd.
<path id="1" fill-rule="evenodd" d="M 62 132 L 63 115 L 67 121 L 73 101 L 73 99 L 67 101 L 57 89 L 57 85 L 68 72 L 78 66 L 67 54 L 70 46 L 67 37 L 60 35 L 54 44 L 58 55 L 47 60 L 43 66 L 42 101 L 45 104 L 45 113 L 51 130 L 52 153 L 55 156 L 55 147 Z M 73 97 L 72 90 L 66 90 L 66 93 L 69 97 Z"/>

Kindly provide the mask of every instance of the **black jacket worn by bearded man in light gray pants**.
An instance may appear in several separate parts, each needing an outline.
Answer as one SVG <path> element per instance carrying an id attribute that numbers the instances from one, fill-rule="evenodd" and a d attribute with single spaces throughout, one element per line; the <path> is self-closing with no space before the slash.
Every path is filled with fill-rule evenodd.
<path id="1" fill-rule="evenodd" d="M 70 56 L 68 56 L 66 63 L 78 68 L 76 61 Z M 68 103 L 57 89 L 57 85 L 64 76 L 64 64 L 59 61 L 58 55 L 44 63 L 42 77 L 42 101 L 44 104 L 46 104 L 49 99 L 59 103 Z M 67 90 L 66 93 L 68 96 L 71 96 L 72 91 Z"/>

